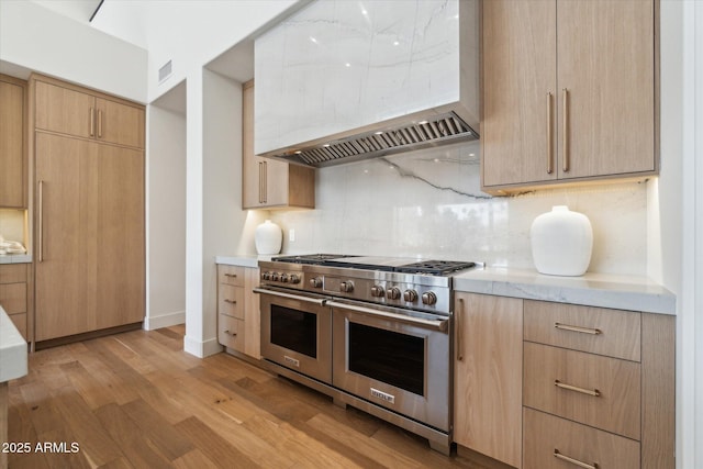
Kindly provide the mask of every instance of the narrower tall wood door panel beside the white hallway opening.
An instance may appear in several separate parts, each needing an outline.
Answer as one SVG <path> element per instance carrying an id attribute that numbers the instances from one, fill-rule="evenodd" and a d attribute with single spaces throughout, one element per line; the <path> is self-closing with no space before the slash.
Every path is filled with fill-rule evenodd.
<path id="1" fill-rule="evenodd" d="M 144 321 L 144 153 L 98 145 L 97 328 Z"/>

